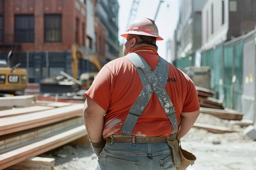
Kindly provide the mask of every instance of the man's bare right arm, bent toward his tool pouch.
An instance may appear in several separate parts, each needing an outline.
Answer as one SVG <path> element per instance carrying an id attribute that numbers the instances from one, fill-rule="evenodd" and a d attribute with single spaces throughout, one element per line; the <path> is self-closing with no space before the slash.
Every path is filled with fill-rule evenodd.
<path id="1" fill-rule="evenodd" d="M 178 132 L 178 135 L 180 138 L 182 138 L 184 135 L 186 135 L 187 132 L 192 128 L 193 124 L 195 123 L 195 120 L 199 116 L 199 110 L 196 110 L 194 112 L 182 112 L 180 114 L 180 125 L 181 129 L 180 132 Z"/>

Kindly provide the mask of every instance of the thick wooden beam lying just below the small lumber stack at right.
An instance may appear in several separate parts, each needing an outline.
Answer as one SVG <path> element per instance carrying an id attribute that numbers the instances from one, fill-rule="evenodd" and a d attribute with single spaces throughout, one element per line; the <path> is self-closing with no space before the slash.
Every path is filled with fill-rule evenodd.
<path id="1" fill-rule="evenodd" d="M 216 109 L 216 108 L 200 107 L 200 112 L 211 114 L 213 116 L 219 117 L 220 119 L 227 119 L 227 120 L 243 119 L 243 114 L 235 110 L 222 110 L 222 109 Z"/>

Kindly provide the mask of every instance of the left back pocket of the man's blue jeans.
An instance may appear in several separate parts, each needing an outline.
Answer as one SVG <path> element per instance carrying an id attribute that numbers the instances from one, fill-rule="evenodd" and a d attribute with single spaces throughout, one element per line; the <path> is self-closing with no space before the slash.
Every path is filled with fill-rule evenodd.
<path id="1" fill-rule="evenodd" d="M 126 161 L 106 156 L 104 170 L 138 170 L 139 162 Z"/>

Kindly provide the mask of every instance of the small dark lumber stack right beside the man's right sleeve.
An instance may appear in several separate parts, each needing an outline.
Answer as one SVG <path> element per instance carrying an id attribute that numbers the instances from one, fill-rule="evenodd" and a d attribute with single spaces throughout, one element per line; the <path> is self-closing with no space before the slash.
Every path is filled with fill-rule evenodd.
<path id="1" fill-rule="evenodd" d="M 198 100 L 201 107 L 224 109 L 222 102 L 213 98 L 214 91 L 199 86 L 196 86 L 196 91 L 198 92 Z"/>

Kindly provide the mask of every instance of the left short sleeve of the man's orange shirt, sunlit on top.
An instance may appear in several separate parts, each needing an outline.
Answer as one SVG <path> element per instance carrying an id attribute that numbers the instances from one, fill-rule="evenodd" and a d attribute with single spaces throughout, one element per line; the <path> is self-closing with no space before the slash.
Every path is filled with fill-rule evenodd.
<path id="1" fill-rule="evenodd" d="M 115 78 L 110 69 L 103 66 L 94 79 L 92 86 L 85 92 L 85 97 L 90 97 L 101 108 L 107 111 L 114 80 Z"/>

